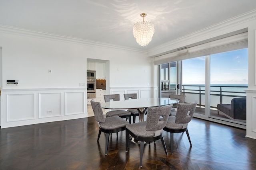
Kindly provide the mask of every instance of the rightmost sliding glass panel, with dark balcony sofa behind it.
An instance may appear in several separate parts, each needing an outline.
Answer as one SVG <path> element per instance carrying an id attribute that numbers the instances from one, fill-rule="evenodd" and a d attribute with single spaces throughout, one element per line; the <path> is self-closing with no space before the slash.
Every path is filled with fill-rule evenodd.
<path id="1" fill-rule="evenodd" d="M 248 49 L 210 55 L 210 84 L 210 117 L 245 125 Z"/>

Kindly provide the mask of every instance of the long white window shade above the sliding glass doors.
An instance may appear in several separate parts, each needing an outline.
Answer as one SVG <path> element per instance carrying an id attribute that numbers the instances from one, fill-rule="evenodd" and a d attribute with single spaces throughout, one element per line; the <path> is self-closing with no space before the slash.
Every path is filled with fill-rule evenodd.
<path id="1" fill-rule="evenodd" d="M 186 59 L 192 59 L 195 57 L 201 57 L 206 55 L 212 55 L 222 53 L 226 51 L 233 51 L 237 49 L 244 49 L 248 47 L 248 33 L 240 33 L 225 37 L 208 43 L 189 47 L 165 55 L 160 55 L 154 58 L 154 64 L 171 63 L 175 61 L 182 61 Z"/>

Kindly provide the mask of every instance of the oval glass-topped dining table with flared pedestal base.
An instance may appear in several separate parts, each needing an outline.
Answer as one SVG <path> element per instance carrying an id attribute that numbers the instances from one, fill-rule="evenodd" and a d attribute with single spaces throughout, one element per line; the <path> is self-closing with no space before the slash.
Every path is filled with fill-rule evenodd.
<path id="1" fill-rule="evenodd" d="M 103 109 L 137 109 L 139 121 L 144 121 L 144 115 L 148 107 L 166 106 L 178 103 L 178 99 L 170 98 L 138 98 L 130 100 L 110 101 L 101 103 Z"/>

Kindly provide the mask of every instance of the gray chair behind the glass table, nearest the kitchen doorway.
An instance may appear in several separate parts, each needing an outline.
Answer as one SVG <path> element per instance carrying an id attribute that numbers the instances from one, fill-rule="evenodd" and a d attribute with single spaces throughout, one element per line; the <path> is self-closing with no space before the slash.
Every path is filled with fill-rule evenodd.
<path id="1" fill-rule="evenodd" d="M 105 102 L 110 102 L 111 100 L 119 101 L 119 94 L 107 94 L 104 95 Z M 131 112 L 126 110 L 111 110 L 106 113 L 106 117 L 119 116 L 121 118 L 129 119 L 129 123 L 131 123 Z"/>

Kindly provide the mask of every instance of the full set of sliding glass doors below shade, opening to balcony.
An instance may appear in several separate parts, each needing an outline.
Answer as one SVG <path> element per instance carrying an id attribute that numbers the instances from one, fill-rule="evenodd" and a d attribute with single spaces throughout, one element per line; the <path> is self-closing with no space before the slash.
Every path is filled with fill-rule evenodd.
<path id="1" fill-rule="evenodd" d="M 248 88 L 247 48 L 160 66 L 162 97 L 170 94 L 185 95 L 186 103 L 198 102 L 195 115 L 245 125 L 246 101 L 236 103 L 236 111 L 231 105 L 234 98 L 246 100 L 244 90 Z M 220 106 L 222 109 L 218 110 Z M 232 115 L 234 112 L 239 115 Z"/>

